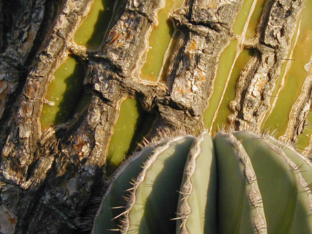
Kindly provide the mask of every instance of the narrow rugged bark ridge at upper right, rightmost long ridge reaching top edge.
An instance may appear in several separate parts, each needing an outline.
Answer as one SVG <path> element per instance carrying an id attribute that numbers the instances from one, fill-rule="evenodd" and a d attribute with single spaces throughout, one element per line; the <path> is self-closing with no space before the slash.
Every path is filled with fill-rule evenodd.
<path id="1" fill-rule="evenodd" d="M 304 0 L 267 2 L 256 39 L 246 45 L 256 50 L 255 56 L 242 72 L 231 102 L 229 120 L 236 129 L 260 131 L 303 6 Z"/>

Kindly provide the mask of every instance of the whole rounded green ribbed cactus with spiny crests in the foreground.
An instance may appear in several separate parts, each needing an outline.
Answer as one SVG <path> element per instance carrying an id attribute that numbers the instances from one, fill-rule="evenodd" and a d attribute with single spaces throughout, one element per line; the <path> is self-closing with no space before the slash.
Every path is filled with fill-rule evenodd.
<path id="1" fill-rule="evenodd" d="M 95 234 L 312 233 L 312 164 L 270 136 L 163 140 L 108 183 Z"/>

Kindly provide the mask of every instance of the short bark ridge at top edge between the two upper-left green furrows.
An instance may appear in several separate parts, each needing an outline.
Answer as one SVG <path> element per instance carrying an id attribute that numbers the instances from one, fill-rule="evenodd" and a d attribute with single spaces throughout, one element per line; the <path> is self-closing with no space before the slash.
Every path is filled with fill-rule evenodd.
<path id="1" fill-rule="evenodd" d="M 110 61 L 123 77 L 137 76 L 149 47 L 148 37 L 165 0 L 129 0 L 96 57 Z"/>

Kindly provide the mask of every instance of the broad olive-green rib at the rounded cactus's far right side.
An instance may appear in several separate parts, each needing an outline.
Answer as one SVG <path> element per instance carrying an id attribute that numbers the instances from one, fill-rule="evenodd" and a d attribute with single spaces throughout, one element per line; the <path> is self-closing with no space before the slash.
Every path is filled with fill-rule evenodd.
<path id="1" fill-rule="evenodd" d="M 311 233 L 311 189 L 297 165 L 256 134 L 240 131 L 234 136 L 242 140 L 258 175 L 268 233 Z"/>

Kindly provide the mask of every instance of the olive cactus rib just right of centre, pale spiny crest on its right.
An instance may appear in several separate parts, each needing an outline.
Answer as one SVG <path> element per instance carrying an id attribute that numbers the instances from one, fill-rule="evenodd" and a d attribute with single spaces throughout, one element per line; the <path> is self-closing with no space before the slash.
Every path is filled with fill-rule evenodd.
<path id="1" fill-rule="evenodd" d="M 267 233 L 251 158 L 232 134 L 214 138 L 218 171 L 218 233 Z"/>

